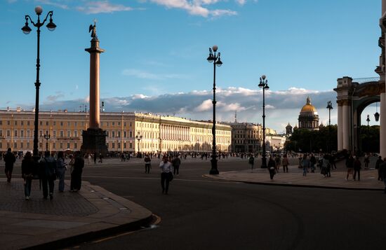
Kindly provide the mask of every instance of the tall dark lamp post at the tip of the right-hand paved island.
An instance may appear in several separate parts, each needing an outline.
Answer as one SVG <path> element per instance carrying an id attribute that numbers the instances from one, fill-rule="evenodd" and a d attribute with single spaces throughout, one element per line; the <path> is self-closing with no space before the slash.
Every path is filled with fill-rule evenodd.
<path id="1" fill-rule="evenodd" d="M 211 160 L 211 171 L 209 174 L 218 174 L 217 169 L 217 155 L 215 150 L 215 67 L 220 67 L 222 62 L 220 60 L 220 52 L 216 55 L 218 50 L 218 46 L 213 46 L 209 48 L 209 56 L 206 60 L 209 63 L 213 63 L 213 126 L 212 126 L 212 135 L 213 135 L 213 143 L 212 143 L 212 160 Z"/>

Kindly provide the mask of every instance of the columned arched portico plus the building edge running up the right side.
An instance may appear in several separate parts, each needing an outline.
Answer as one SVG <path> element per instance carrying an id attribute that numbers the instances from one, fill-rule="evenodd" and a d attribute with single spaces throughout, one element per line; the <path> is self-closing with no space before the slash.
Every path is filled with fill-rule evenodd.
<path id="1" fill-rule="evenodd" d="M 343 77 L 338 79 L 338 87 L 335 88 L 335 91 L 338 92 L 338 150 L 353 150 L 354 144 L 358 145 L 358 139 L 351 138 L 352 135 L 356 137 L 358 134 L 357 130 L 360 125 L 361 111 L 368 104 L 380 100 L 380 155 L 386 157 L 386 0 L 382 0 L 379 25 L 381 34 L 378 46 L 380 46 L 382 53 L 379 57 L 379 66 L 375 69 L 375 72 L 379 74 L 380 80 L 354 84 L 352 78 Z M 357 125 L 356 130 L 354 125 Z"/>

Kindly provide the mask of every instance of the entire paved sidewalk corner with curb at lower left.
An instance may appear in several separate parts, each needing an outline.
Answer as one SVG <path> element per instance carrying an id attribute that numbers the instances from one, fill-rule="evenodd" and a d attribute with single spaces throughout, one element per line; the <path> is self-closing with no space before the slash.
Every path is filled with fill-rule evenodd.
<path id="1" fill-rule="evenodd" d="M 151 221 L 152 212 L 99 186 L 82 181 L 81 191 L 58 193 L 44 200 L 39 180 L 25 200 L 22 179 L 0 179 L 1 249 L 53 249 L 95 237 L 133 230 Z"/>

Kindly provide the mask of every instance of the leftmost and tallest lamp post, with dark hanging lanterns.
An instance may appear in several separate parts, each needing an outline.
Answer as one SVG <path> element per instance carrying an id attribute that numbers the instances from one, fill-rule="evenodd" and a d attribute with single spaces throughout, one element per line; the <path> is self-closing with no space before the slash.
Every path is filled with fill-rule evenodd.
<path id="1" fill-rule="evenodd" d="M 29 32 L 32 31 L 32 29 L 28 26 L 28 19 L 34 25 L 34 27 L 37 28 L 37 57 L 36 57 L 36 100 L 35 100 L 35 122 L 34 122 L 34 150 L 33 155 L 34 158 L 38 158 L 39 155 L 39 147 L 38 147 L 38 125 L 39 125 L 39 87 L 40 87 L 40 81 L 39 81 L 39 70 L 40 70 L 40 27 L 44 25 L 46 22 L 48 15 L 50 16 L 50 22 L 46 25 L 49 31 L 53 31 L 56 28 L 56 25 L 53 23 L 52 15 L 53 11 L 49 11 L 46 15 L 46 18 L 44 18 L 43 22 L 40 22 L 40 15 L 43 12 L 43 8 L 41 6 L 36 6 L 35 13 L 37 15 L 37 22 L 35 23 L 32 21 L 32 18 L 29 15 L 25 15 L 25 26 L 22 27 L 22 32 L 24 34 L 29 34 Z"/>

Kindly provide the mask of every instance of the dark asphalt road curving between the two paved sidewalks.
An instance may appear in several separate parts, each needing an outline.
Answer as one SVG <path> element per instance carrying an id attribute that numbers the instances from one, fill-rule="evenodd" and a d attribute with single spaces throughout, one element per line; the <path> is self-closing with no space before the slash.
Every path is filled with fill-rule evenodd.
<path id="1" fill-rule="evenodd" d="M 211 181 L 201 176 L 209 169 L 208 161 L 182 162 L 180 176 L 163 195 L 156 164 L 150 174 L 133 163 L 86 167 L 84 180 L 147 207 L 161 223 L 76 248 L 385 249 L 386 195 L 379 191 Z"/>

